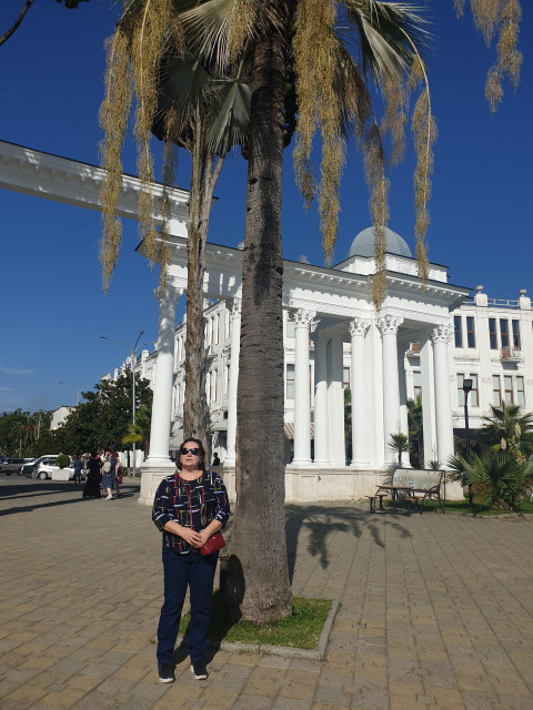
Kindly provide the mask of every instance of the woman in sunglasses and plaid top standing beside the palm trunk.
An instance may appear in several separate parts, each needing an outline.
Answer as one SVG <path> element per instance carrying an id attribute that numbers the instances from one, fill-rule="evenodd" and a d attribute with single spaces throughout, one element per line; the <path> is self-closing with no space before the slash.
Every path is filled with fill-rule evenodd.
<path id="1" fill-rule="evenodd" d="M 200 439 L 183 442 L 179 471 L 163 478 L 153 503 L 152 519 L 163 534 L 164 604 L 158 628 L 158 669 L 162 683 L 174 680 L 172 652 L 188 587 L 191 670 L 197 680 L 208 677 L 203 653 L 219 552 L 201 555 L 200 548 L 225 525 L 230 505 L 220 476 L 203 469 L 204 458 Z"/>

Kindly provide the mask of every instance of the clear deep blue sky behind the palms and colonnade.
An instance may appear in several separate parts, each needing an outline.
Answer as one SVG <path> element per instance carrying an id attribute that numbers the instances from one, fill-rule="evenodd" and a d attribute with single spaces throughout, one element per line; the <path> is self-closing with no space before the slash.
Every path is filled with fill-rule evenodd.
<path id="1" fill-rule="evenodd" d="M 1 3 L 0 32 L 21 4 L 22 0 Z M 516 298 L 519 288 L 532 295 L 533 8 L 522 2 L 524 64 L 519 91 L 506 87 L 493 115 L 483 88 L 494 48 L 485 48 L 469 13 L 455 20 L 452 0 L 421 4 L 433 22 L 434 48 L 428 62 L 439 124 L 430 260 L 450 266 L 452 283 L 483 284 L 490 297 Z M 77 10 L 36 0 L 19 30 L 0 47 L 1 140 L 98 164 L 103 41 L 117 16 L 111 0 L 90 0 Z M 180 161 L 178 180 L 187 187 L 187 160 L 180 155 Z M 316 212 L 312 207 L 303 213 L 291 162 L 289 149 L 284 256 L 298 260 L 305 254 L 311 263 L 323 264 Z M 131 139 L 124 170 L 135 172 Z M 412 170 L 410 148 L 391 176 L 390 227 L 411 247 Z M 217 189 L 210 241 L 234 246 L 243 239 L 244 179 L 245 164 L 235 154 Z M 99 213 L 0 190 L 0 412 L 73 404 L 79 389 L 91 388 L 127 355 L 125 347 L 105 343 L 100 335 L 133 343 L 143 329 L 143 341 L 157 338 L 157 271 L 134 252 L 137 225 L 124 221 L 120 262 L 103 296 Z M 345 257 L 353 237 L 369 224 L 361 158 L 351 148 L 335 261 Z"/>

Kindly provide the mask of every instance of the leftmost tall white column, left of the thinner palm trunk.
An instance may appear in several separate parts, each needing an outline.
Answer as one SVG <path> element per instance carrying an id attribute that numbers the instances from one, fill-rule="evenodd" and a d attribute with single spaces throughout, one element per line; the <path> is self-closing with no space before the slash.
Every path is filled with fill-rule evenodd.
<path id="1" fill-rule="evenodd" d="M 175 305 L 183 290 L 167 285 L 163 292 L 158 288 L 154 293 L 159 301 L 158 361 L 150 426 L 150 456 L 145 466 L 173 468 L 169 446 L 174 376 Z"/>

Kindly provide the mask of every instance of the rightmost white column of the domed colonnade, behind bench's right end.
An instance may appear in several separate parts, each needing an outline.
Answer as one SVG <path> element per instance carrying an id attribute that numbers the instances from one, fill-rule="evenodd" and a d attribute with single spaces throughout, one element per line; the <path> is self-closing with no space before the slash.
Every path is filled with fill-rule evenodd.
<path id="1" fill-rule="evenodd" d="M 439 460 L 445 465 L 453 456 L 453 423 L 450 395 L 450 368 L 447 345 L 452 339 L 450 324 L 438 325 L 433 329 L 433 361 L 435 366 L 435 417 L 436 450 Z"/>

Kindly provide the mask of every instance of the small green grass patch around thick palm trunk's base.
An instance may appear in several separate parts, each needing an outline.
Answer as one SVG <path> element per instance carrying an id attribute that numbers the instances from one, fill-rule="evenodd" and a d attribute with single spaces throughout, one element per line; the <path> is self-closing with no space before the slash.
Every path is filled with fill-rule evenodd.
<path id="1" fill-rule="evenodd" d="M 222 604 L 222 595 L 217 589 L 211 604 L 209 637 L 217 641 L 315 649 L 330 609 L 331 599 L 294 597 L 292 615 L 286 619 L 264 623 L 232 622 Z M 190 612 L 182 617 L 180 633 L 187 633 L 190 620 Z"/>

